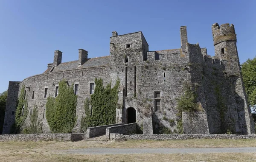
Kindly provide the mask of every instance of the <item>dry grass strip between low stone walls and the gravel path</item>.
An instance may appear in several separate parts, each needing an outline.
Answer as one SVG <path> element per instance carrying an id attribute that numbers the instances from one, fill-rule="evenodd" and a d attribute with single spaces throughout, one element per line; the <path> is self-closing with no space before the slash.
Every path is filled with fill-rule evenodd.
<path id="1" fill-rule="evenodd" d="M 255 147 L 256 140 L 128 140 L 128 141 L 87 141 L 79 142 L 0 142 L 0 152 L 20 150 L 65 150 L 76 148 L 227 148 Z M 1 153 L 0 153 L 1 154 Z"/>

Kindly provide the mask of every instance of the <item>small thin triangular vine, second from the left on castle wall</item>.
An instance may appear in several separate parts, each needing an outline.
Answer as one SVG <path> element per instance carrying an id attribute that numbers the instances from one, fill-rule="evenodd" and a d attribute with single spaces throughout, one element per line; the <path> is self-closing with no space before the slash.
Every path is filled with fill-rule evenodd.
<path id="1" fill-rule="evenodd" d="M 30 125 L 23 129 L 24 134 L 43 133 L 42 123 L 38 119 L 38 107 L 34 105 L 33 113 L 30 116 Z"/>

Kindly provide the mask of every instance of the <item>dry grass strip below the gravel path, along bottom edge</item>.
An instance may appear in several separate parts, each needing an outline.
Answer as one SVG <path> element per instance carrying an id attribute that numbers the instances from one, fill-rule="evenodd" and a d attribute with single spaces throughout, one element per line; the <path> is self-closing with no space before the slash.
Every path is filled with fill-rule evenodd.
<path id="1" fill-rule="evenodd" d="M 119 155 L 77 155 L 77 154 L 13 154 L 1 157 L 10 162 L 254 162 L 254 153 L 215 153 L 215 154 L 119 154 Z"/>

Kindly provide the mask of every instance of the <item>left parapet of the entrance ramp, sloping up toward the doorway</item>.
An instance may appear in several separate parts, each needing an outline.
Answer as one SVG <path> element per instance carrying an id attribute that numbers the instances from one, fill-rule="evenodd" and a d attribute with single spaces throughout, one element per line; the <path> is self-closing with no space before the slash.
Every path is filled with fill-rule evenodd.
<path id="1" fill-rule="evenodd" d="M 110 127 L 110 126 L 119 126 L 119 125 L 123 125 L 123 124 L 125 124 L 125 123 L 117 123 L 117 124 L 110 124 L 110 125 L 105 125 L 105 126 L 89 127 L 89 128 L 87 128 L 87 130 L 86 130 L 85 138 L 91 138 L 91 137 L 99 136 L 99 135 L 101 135 L 101 134 L 105 134 L 107 127 Z"/>

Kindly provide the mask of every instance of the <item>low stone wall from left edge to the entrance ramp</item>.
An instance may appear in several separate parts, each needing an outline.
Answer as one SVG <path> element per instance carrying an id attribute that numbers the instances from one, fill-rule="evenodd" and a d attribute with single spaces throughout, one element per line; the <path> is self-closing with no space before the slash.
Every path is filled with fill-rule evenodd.
<path id="1" fill-rule="evenodd" d="M 0 142 L 7 141 L 78 141 L 83 140 L 84 134 L 4 134 Z"/>

